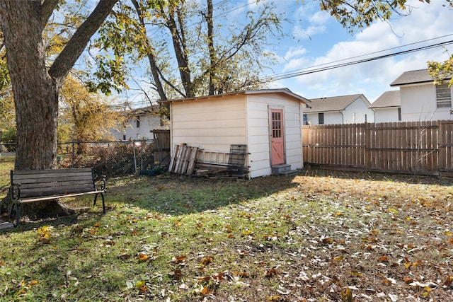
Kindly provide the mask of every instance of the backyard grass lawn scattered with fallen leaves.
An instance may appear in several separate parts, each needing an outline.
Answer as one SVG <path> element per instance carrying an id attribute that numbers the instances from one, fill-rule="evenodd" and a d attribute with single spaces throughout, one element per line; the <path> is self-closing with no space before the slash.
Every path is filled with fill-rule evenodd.
<path id="1" fill-rule="evenodd" d="M 451 301 L 452 184 L 320 170 L 110 179 L 105 215 L 0 233 L 0 300 Z"/>

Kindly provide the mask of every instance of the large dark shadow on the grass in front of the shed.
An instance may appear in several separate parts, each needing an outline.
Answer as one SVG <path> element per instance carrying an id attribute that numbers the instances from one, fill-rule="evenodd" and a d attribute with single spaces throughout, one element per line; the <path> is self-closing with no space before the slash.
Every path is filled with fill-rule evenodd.
<path id="1" fill-rule="evenodd" d="M 294 177 L 266 176 L 251 180 L 190 178 L 182 175 L 110 180 L 107 204 L 134 204 L 142 209 L 172 216 L 219 209 L 268 197 L 297 187 Z"/>

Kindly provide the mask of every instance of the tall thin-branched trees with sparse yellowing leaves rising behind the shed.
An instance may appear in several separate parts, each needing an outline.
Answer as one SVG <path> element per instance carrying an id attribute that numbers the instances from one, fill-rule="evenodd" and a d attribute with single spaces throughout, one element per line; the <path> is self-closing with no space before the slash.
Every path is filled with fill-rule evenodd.
<path id="1" fill-rule="evenodd" d="M 128 58 L 149 64 L 154 99 L 263 88 L 259 76 L 275 62 L 265 47 L 284 35 L 285 19 L 273 13 L 271 2 L 233 24 L 225 20 L 224 3 L 215 6 L 214 15 L 212 0 L 131 3 L 115 9 L 100 29 L 95 46 L 105 54 L 96 50 L 97 81 L 91 88 L 109 92 L 125 86 L 121 70 Z"/>

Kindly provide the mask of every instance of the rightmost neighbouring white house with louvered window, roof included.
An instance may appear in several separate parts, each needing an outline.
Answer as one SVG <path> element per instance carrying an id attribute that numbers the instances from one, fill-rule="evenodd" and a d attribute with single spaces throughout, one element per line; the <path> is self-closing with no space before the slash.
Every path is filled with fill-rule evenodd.
<path id="1" fill-rule="evenodd" d="M 406 71 L 393 81 L 399 87 L 403 122 L 452 120 L 452 88 L 449 79 L 435 85 L 428 69 Z"/>

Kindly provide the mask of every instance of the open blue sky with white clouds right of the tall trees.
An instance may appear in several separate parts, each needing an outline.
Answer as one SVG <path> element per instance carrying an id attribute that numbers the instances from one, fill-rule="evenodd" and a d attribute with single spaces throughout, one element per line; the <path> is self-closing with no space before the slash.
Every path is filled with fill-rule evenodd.
<path id="1" fill-rule="evenodd" d="M 242 10 L 245 11 L 262 5 L 263 1 L 266 0 L 257 4 L 253 0 L 231 0 L 229 5 L 243 6 Z M 293 22 L 285 24 L 285 33 L 289 36 L 269 46 L 280 62 L 273 67 L 274 74 L 300 71 L 351 57 L 356 57 L 356 60 L 357 56 L 365 54 L 375 57 L 453 40 L 453 11 L 443 6 L 447 4 L 445 0 L 431 0 L 431 4 L 409 0 L 408 3 L 413 6 L 409 16 L 394 16 L 391 21 L 384 23 L 377 21 L 353 35 L 335 18 L 321 12 L 319 1 L 276 0 L 275 3 L 277 10 L 285 13 L 285 17 Z M 234 14 L 238 14 L 238 11 Z M 435 39 L 437 37 L 442 38 Z M 380 52 L 382 50 L 389 51 Z M 451 53 L 453 45 L 297 76 L 270 83 L 270 87 L 286 87 L 306 98 L 363 93 L 373 102 L 385 91 L 394 90 L 390 83 L 404 71 L 425 69 L 428 61 L 443 61 L 448 57 L 447 50 Z M 273 73 L 268 75 L 272 76 Z"/>

